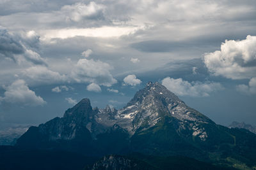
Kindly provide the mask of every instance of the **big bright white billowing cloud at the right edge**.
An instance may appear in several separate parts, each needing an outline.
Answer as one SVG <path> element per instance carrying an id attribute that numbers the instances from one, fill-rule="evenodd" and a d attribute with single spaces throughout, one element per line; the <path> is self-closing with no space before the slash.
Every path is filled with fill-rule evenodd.
<path id="1" fill-rule="evenodd" d="M 256 36 L 249 35 L 241 41 L 225 40 L 221 50 L 204 55 L 204 63 L 215 76 L 252 78 L 256 74 Z"/>

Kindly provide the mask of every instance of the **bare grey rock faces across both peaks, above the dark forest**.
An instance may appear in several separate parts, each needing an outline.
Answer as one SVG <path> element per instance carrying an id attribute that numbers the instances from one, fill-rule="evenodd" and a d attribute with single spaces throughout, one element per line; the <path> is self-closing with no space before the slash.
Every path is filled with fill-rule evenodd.
<path id="1" fill-rule="evenodd" d="M 189 122 L 193 136 L 200 136 L 202 139 L 207 138 L 207 133 L 198 124 L 214 124 L 209 118 L 186 106 L 160 83 L 149 82 L 120 110 L 109 106 L 100 110 L 92 108 L 90 100 L 83 99 L 65 111 L 62 118 L 54 118 L 39 125 L 38 132 L 49 141 L 72 140 L 83 136 L 96 138 L 113 125 L 118 125 L 132 136 L 138 129 L 145 131 L 166 116 L 177 118 L 184 124 Z M 183 123 L 180 125 L 184 126 Z"/>

